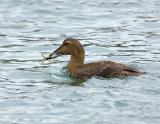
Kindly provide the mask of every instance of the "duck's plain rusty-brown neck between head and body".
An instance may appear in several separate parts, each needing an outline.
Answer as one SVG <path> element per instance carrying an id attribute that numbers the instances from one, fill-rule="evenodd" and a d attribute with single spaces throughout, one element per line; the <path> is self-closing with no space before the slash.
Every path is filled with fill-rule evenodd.
<path id="1" fill-rule="evenodd" d="M 82 66 L 84 64 L 85 55 L 74 56 L 71 55 L 70 61 L 67 65 L 67 68 L 70 72 L 74 71 L 77 67 Z"/>

